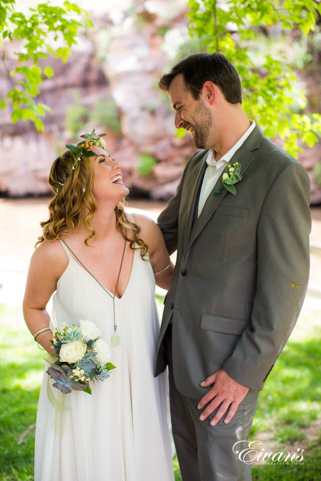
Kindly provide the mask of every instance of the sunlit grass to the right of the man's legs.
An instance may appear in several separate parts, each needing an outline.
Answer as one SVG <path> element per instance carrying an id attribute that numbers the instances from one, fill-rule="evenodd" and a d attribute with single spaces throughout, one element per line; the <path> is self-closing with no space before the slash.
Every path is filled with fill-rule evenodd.
<path id="1" fill-rule="evenodd" d="M 311 304 L 302 311 L 259 395 L 250 434 L 250 440 L 262 440 L 265 451 L 304 449 L 304 459 L 253 465 L 253 481 L 321 480 L 320 344 L 321 311 Z"/>

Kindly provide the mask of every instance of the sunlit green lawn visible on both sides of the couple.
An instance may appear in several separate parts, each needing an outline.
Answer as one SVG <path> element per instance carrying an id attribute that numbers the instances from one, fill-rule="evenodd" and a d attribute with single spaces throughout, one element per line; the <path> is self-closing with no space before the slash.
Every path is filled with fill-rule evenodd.
<path id="1" fill-rule="evenodd" d="M 156 296 L 158 312 L 162 296 Z M 321 480 L 321 312 L 303 312 L 259 396 L 250 440 L 273 453 L 304 449 L 304 461 L 253 465 L 253 481 Z M 17 309 L 0 305 L 0 481 L 32 481 L 37 402 L 44 367 Z M 21 323 L 19 323 L 21 325 Z M 174 458 L 176 481 L 181 481 Z M 152 480 L 152 473 L 150 473 Z"/>

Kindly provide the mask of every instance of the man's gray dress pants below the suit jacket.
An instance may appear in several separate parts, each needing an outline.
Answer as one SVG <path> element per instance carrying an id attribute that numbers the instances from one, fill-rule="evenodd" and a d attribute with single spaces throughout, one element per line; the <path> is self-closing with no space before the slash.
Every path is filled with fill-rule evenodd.
<path id="1" fill-rule="evenodd" d="M 257 399 L 240 404 L 228 424 L 224 424 L 223 417 L 211 426 L 215 412 L 200 421 L 199 399 L 183 396 L 175 386 L 171 324 L 164 343 L 169 364 L 172 430 L 183 481 L 251 481 L 251 466 L 238 458 L 233 445 L 247 440 Z"/>

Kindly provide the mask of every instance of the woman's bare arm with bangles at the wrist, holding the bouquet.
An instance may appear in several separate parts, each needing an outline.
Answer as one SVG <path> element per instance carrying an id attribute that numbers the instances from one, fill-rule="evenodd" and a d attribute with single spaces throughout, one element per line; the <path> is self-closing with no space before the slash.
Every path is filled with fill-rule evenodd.
<path id="1" fill-rule="evenodd" d="M 68 265 L 58 241 L 44 241 L 35 250 L 29 266 L 23 300 L 25 322 L 35 341 L 53 354 L 49 314 L 46 305 L 55 292 L 57 281 Z M 45 330 L 48 328 L 48 331 Z M 37 332 L 39 334 L 37 335 Z"/>

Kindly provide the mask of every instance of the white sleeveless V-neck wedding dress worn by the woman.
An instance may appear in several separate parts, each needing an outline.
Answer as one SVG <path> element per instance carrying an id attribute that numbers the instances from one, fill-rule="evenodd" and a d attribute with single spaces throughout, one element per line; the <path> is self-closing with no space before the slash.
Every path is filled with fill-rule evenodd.
<path id="1" fill-rule="evenodd" d="M 57 284 L 51 327 L 80 319 L 97 324 L 110 344 L 112 299 L 72 258 Z M 91 382 L 92 395 L 62 394 L 67 410 L 49 401 L 48 375 L 39 397 L 35 481 L 172 481 L 172 449 L 166 407 L 167 378 L 153 377 L 159 330 L 149 261 L 134 252 L 126 290 L 115 298 L 120 344 L 111 347 L 116 366 L 105 381 Z M 46 364 L 46 369 L 48 364 Z"/>

